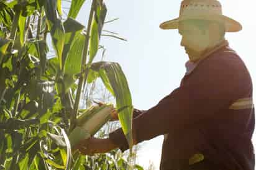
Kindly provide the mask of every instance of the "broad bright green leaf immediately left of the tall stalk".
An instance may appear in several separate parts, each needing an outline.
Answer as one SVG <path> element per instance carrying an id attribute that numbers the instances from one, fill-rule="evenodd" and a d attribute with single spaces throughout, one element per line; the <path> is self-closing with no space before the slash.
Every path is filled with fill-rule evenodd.
<path id="1" fill-rule="evenodd" d="M 85 35 L 80 34 L 68 52 L 64 66 L 65 92 L 67 92 L 70 86 L 75 83 L 73 76 L 80 73 L 84 45 Z"/>

